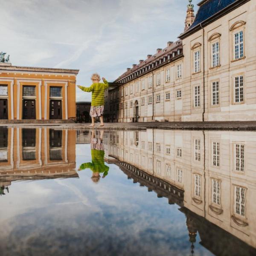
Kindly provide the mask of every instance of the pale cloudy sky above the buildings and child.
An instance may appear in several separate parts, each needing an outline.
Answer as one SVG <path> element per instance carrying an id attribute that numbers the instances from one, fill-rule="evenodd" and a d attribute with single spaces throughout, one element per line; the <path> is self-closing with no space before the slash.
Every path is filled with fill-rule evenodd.
<path id="1" fill-rule="evenodd" d="M 195 10 L 199 0 L 193 0 Z M 183 32 L 188 0 L 0 0 L 0 51 L 12 65 L 79 69 L 114 81 Z M 4 40 L 3 40 L 4 38 Z M 76 89 L 76 101 L 91 93 Z"/>

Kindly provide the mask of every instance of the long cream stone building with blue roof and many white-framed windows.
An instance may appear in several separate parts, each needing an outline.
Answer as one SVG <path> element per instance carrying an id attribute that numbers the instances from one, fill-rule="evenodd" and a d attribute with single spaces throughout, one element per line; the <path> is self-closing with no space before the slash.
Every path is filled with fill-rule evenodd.
<path id="1" fill-rule="evenodd" d="M 116 79 L 106 121 L 256 120 L 256 8 L 252 0 L 203 0 L 185 29 Z"/>

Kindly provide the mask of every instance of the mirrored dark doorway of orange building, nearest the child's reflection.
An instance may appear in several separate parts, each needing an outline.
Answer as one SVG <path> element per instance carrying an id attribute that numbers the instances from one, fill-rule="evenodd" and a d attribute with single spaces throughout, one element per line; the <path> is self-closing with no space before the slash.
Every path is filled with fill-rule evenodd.
<path id="1" fill-rule="evenodd" d="M 62 131 L 49 130 L 50 160 L 62 160 Z"/>

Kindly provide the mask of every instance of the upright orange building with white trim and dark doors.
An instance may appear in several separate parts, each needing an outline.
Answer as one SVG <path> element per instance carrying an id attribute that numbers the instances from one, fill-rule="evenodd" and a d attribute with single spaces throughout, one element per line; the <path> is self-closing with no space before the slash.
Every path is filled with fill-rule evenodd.
<path id="1" fill-rule="evenodd" d="M 0 119 L 75 119 L 78 72 L 0 62 Z"/>

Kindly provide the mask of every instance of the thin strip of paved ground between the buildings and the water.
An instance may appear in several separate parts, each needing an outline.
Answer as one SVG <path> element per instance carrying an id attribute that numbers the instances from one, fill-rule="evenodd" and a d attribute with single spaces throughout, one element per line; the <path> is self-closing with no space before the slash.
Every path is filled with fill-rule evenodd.
<path id="1" fill-rule="evenodd" d="M 90 123 L 19 123 L 19 124 L 0 124 L 8 127 L 35 127 L 49 126 L 55 128 L 84 129 L 89 127 Z M 256 131 L 256 121 L 250 122 L 141 122 L 141 123 L 105 123 L 99 127 L 96 123 L 95 128 L 99 129 L 186 129 L 186 130 L 240 130 Z"/>

